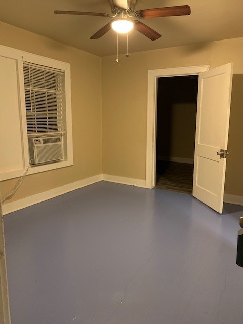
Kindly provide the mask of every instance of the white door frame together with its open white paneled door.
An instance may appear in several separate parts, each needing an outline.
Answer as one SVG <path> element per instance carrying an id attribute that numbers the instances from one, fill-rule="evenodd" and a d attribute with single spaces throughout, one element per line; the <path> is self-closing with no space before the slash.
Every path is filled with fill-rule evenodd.
<path id="1" fill-rule="evenodd" d="M 193 196 L 223 212 L 233 63 L 148 71 L 146 188 L 156 184 L 157 80 L 165 76 L 198 75 Z"/>

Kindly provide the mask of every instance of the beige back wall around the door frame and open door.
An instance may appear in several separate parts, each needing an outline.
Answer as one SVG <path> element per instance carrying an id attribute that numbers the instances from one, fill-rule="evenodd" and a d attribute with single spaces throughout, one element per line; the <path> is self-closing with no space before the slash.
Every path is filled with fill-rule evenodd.
<path id="1" fill-rule="evenodd" d="M 145 179 L 147 71 L 234 63 L 225 193 L 243 196 L 243 38 L 102 58 L 103 173 Z"/>

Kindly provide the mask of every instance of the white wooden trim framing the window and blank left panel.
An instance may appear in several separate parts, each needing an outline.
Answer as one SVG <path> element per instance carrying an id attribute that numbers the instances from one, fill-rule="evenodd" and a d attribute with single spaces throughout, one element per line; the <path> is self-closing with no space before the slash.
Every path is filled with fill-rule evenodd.
<path id="1" fill-rule="evenodd" d="M 0 173 L 0 181 L 20 177 L 24 170 L 29 165 L 29 150 L 28 150 L 28 136 L 27 136 L 27 123 L 26 123 L 26 110 L 25 110 L 25 95 L 24 95 L 24 75 L 23 75 L 23 61 L 31 62 L 38 65 L 44 65 L 65 72 L 65 123 L 66 134 L 64 141 L 64 159 L 50 164 L 40 166 L 30 166 L 29 174 L 64 168 L 73 165 L 73 146 L 72 146 L 72 112 L 71 112 L 71 74 L 70 64 L 50 59 L 44 56 L 23 52 L 6 46 L 0 46 L 0 55 L 15 58 L 17 62 L 18 71 L 18 84 L 19 84 L 19 113 L 20 124 L 22 130 L 22 157 L 23 169 L 11 170 L 5 173 Z M 66 142 L 66 144 L 65 144 Z M 0 170 L 1 172 L 1 170 Z"/>

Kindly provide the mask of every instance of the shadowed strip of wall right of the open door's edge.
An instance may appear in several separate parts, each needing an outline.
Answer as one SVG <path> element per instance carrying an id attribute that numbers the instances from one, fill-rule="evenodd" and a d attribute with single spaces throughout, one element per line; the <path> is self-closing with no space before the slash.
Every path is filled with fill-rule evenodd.
<path id="1" fill-rule="evenodd" d="M 243 75 L 233 75 L 225 193 L 243 197 Z"/>

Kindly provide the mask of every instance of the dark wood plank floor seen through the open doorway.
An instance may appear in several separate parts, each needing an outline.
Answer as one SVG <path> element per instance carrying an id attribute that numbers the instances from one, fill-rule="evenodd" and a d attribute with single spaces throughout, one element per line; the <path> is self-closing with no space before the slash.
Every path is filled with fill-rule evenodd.
<path id="1" fill-rule="evenodd" d="M 192 194 L 193 164 L 156 162 L 156 188 Z"/>

